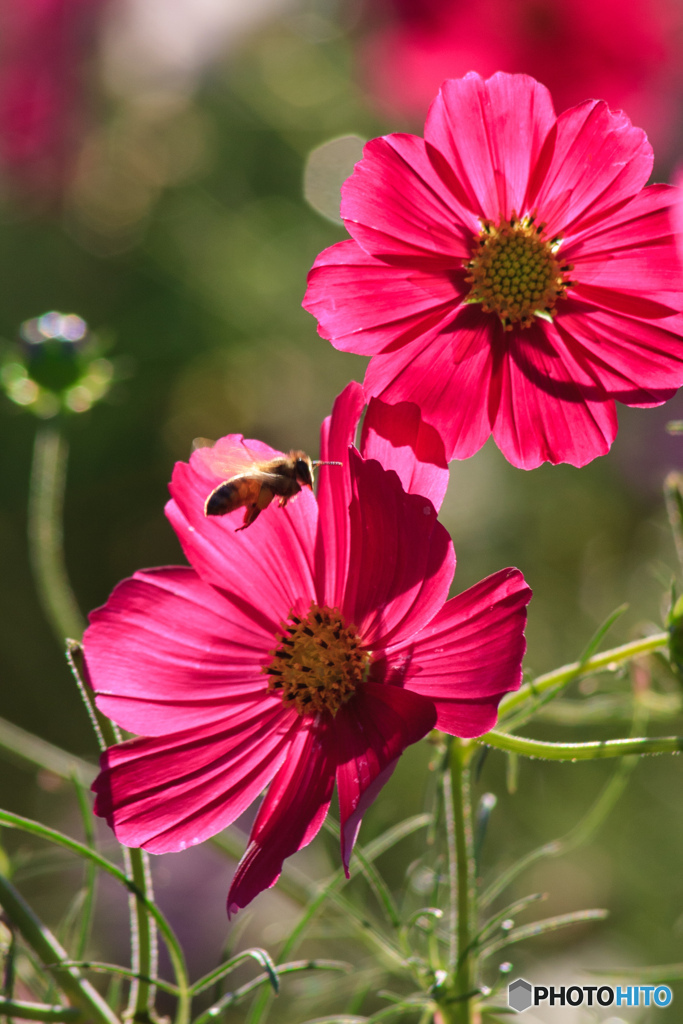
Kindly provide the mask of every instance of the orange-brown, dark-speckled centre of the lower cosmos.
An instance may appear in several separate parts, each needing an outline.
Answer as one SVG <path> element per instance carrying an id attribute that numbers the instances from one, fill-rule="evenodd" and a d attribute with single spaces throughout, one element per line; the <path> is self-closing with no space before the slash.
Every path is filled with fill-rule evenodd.
<path id="1" fill-rule="evenodd" d="M 370 666 L 357 629 L 347 626 L 336 608 L 311 604 L 305 617 L 291 614 L 275 639 L 271 660 L 263 667 L 270 677 L 268 690 L 299 715 L 336 715 Z"/>

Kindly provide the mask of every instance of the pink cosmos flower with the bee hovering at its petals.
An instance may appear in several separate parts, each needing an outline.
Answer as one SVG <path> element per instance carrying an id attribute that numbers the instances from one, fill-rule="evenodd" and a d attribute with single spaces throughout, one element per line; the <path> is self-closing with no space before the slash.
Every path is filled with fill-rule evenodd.
<path id="1" fill-rule="evenodd" d="M 323 426 L 322 457 L 345 466 L 319 470 L 317 501 L 304 489 L 248 529 L 236 531 L 242 510 L 204 516 L 221 479 L 216 454 L 279 453 L 229 435 L 178 463 L 167 514 L 191 568 L 136 572 L 85 634 L 98 708 L 140 734 L 102 756 L 93 786 L 122 843 L 182 850 L 269 784 L 228 912 L 311 841 L 335 780 L 348 867 L 401 752 L 434 727 L 480 735 L 520 682 L 521 573 L 446 600 L 455 554 L 436 519 L 440 440 L 417 410 L 401 410 L 399 434 L 395 411 L 373 403 L 358 454 L 349 445 L 362 401 L 350 385 Z"/>

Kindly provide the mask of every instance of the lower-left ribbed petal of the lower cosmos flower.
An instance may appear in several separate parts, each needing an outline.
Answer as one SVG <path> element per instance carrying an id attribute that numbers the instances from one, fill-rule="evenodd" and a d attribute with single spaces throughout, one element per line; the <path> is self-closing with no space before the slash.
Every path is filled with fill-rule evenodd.
<path id="1" fill-rule="evenodd" d="M 184 850 L 245 811 L 289 756 L 299 716 L 254 700 L 210 725 L 130 739 L 101 757 L 95 813 L 126 846 Z"/>

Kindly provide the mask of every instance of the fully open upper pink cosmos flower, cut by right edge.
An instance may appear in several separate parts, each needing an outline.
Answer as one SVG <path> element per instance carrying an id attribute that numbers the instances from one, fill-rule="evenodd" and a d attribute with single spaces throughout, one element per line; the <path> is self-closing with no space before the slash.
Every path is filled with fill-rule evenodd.
<path id="1" fill-rule="evenodd" d="M 683 384 L 677 190 L 621 112 L 555 116 L 524 75 L 447 81 L 425 138 L 368 143 L 342 187 L 352 236 L 323 252 L 304 306 L 365 388 L 417 402 L 466 459 L 493 433 L 515 466 L 583 466 L 616 435 L 614 399 Z"/>

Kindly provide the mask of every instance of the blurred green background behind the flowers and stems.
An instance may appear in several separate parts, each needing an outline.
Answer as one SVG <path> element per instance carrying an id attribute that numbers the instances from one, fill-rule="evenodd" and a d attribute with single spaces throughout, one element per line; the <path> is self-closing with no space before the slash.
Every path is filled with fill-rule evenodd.
<path id="1" fill-rule="evenodd" d="M 163 5 L 157 6 L 163 26 Z M 211 5 L 198 10 L 205 6 Z M 24 321 L 58 309 L 87 321 L 115 368 L 106 397 L 66 424 L 66 551 L 84 611 L 101 604 L 135 569 L 182 561 L 163 507 L 173 463 L 188 457 L 194 437 L 242 432 L 315 457 L 319 424 L 334 397 L 349 379 L 362 379 L 365 360 L 322 341 L 300 307 L 314 257 L 346 237 L 340 222 L 306 201 L 303 182 L 309 155 L 330 139 L 420 130 L 412 110 L 389 116 L 364 71 L 369 40 L 384 31 L 389 15 L 398 25 L 405 9 L 264 4 L 249 25 L 221 23 L 220 32 L 207 30 L 204 48 L 198 45 L 185 65 L 164 63 L 165 37 L 158 27 L 152 38 L 159 71 L 139 38 L 137 50 L 130 38 L 125 49 L 122 14 L 112 3 L 96 44 L 79 56 L 86 99 L 81 97 L 66 179 L 57 189 L 23 189 L 20 175 L 12 179 L 7 169 L 0 209 L 5 355 Z M 127 31 L 135 42 L 130 26 Z M 155 72 L 147 79 L 145 59 Z M 454 67 L 454 74 L 461 70 L 467 69 Z M 680 96 L 668 88 L 678 110 Z M 666 130 L 659 124 L 659 180 L 681 152 L 676 126 L 675 118 Z M 329 188 L 335 174 L 350 171 L 357 145 L 351 139 L 342 146 L 339 166 L 328 169 Z M 319 173 L 325 178 L 325 167 Z M 308 180 L 312 198 L 330 212 L 329 196 L 321 199 Z M 40 422 L 6 396 L 0 416 L 1 714 L 94 759 L 85 712 L 29 565 L 29 476 Z M 621 410 L 620 416 L 613 450 L 584 470 L 545 466 L 524 473 L 490 444 L 453 466 L 442 519 L 458 553 L 456 588 L 505 565 L 523 570 L 535 591 L 527 633 L 533 672 L 575 658 L 623 602 L 629 610 L 610 633 L 610 644 L 639 635 L 643 627 L 661 628 L 677 563 L 660 487 L 668 470 L 683 468 L 683 437 L 670 436 L 665 427 L 683 416 L 683 401 Z M 650 691 L 650 731 L 681 732 L 679 684 L 665 669 L 654 667 L 650 675 L 650 668 L 641 667 L 635 681 L 626 674 L 584 683 L 573 697 L 585 702 L 640 686 Z M 666 721 L 657 718 L 663 709 Z M 630 728 L 628 718 L 591 726 L 573 722 L 570 710 L 566 715 L 565 722 L 546 721 L 529 731 L 580 739 L 624 735 Z M 367 815 L 361 839 L 421 809 L 433 776 L 431 757 L 427 744 L 404 756 Z M 484 876 L 568 830 L 613 770 L 610 764 L 523 762 L 512 795 L 505 759 L 492 752 L 476 783 L 477 795 L 493 791 L 499 797 Z M 569 984 L 581 967 L 683 959 L 680 777 L 677 758 L 644 761 L 591 844 L 543 862 L 516 885 L 513 895 L 550 894 L 543 915 L 604 906 L 610 916 L 516 947 L 505 954 L 514 964 L 513 977 Z M 8 809 L 80 828 L 68 786 L 44 773 L 36 778 L 3 761 L 0 790 Z M 8 835 L 6 840 L 8 848 L 27 855 L 17 881 L 25 879 L 25 891 L 55 922 L 69 898 L 63 879 L 75 876 L 54 873 L 54 863 L 48 871 L 28 856 L 37 849 L 32 844 Z M 398 891 L 413 884 L 405 871 L 421 852 L 421 841 L 408 843 L 382 862 Z M 325 837 L 294 861 L 321 873 L 336 863 L 334 844 Z M 229 863 L 207 847 L 155 858 L 155 870 L 160 902 L 188 943 L 194 972 L 210 970 L 228 932 L 223 901 Z M 357 891 L 362 900 L 362 889 Z M 101 902 L 97 955 L 125 956 L 125 901 L 117 902 L 104 886 Z M 238 927 L 246 928 L 238 941 L 268 947 L 293 914 L 285 897 L 263 894 L 240 915 L 246 926 L 238 919 Z M 323 921 L 311 948 L 355 959 L 359 973 L 342 981 L 292 982 L 288 992 L 299 1001 L 285 996 L 276 1020 L 375 1006 L 378 981 L 369 955 L 329 931 Z M 364 985 L 367 1000 L 349 1002 Z M 676 997 L 683 998 L 683 987 Z M 605 1011 L 603 1017 L 615 1015 Z M 680 1020 L 676 1004 L 651 1016 L 661 1024 Z M 232 1019 L 242 1020 L 243 1012 Z M 584 1020 L 559 1014 L 549 1019 Z"/>

